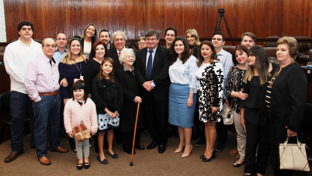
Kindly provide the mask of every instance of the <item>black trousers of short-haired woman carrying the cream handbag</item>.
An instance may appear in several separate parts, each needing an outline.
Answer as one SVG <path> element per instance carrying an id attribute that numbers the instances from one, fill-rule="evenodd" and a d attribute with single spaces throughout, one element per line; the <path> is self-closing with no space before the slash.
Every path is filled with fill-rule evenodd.
<path id="1" fill-rule="evenodd" d="M 271 150 L 271 163 L 275 176 L 289 176 L 292 175 L 292 170 L 280 170 L 280 161 L 279 161 L 279 153 L 278 146 L 280 143 L 284 143 L 287 138 L 287 126 L 288 121 L 282 121 L 278 119 L 271 118 L 270 121 L 270 150 Z M 296 144 L 297 138 L 291 137 L 288 140 L 288 143 Z"/>

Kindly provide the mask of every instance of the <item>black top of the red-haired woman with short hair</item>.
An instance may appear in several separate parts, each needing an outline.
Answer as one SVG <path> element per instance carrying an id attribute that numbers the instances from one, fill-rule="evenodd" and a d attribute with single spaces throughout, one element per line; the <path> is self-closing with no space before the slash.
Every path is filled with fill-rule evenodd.
<path id="1" fill-rule="evenodd" d="M 88 90 L 88 94 L 91 94 L 92 81 L 95 76 L 99 74 L 101 70 L 101 64 L 93 59 L 89 59 L 88 64 L 85 66 L 85 86 Z"/>

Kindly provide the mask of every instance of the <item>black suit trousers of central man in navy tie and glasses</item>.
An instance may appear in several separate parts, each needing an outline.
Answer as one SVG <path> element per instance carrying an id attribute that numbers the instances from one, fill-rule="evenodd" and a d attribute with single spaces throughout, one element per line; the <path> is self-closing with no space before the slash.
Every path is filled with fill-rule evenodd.
<path id="1" fill-rule="evenodd" d="M 166 145 L 169 100 L 157 101 L 154 98 L 153 92 L 145 93 L 142 99 L 144 100 L 142 105 L 147 115 L 149 134 L 153 141 Z"/>

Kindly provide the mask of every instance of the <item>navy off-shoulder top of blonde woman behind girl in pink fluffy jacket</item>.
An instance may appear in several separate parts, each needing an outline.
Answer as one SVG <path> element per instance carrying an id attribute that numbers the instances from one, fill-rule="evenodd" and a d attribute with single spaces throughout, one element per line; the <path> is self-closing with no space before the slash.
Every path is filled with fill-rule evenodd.
<path id="1" fill-rule="evenodd" d="M 85 61 L 81 61 L 81 62 L 76 63 L 76 64 L 59 63 L 59 65 L 58 65 L 58 69 L 60 72 L 59 82 L 61 82 L 61 80 L 64 77 L 67 78 L 67 82 L 68 82 L 67 87 L 63 87 L 63 86 L 60 87 L 61 99 L 71 98 L 71 96 L 72 96 L 71 88 L 74 84 L 74 79 L 75 78 L 79 79 L 80 73 L 81 73 L 81 76 L 84 76 L 85 66 L 86 66 Z"/>

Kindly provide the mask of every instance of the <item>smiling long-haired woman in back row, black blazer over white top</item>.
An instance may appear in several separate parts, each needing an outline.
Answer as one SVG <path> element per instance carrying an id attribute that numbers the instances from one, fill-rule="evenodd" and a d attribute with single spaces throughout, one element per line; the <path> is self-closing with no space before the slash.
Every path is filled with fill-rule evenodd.
<path id="1" fill-rule="evenodd" d="M 97 41 L 97 30 L 96 26 L 93 23 L 90 23 L 85 27 L 82 35 L 75 35 L 74 38 L 81 40 L 81 50 L 83 55 L 89 60 L 93 56 L 91 54 L 91 47 L 94 42 Z"/>

